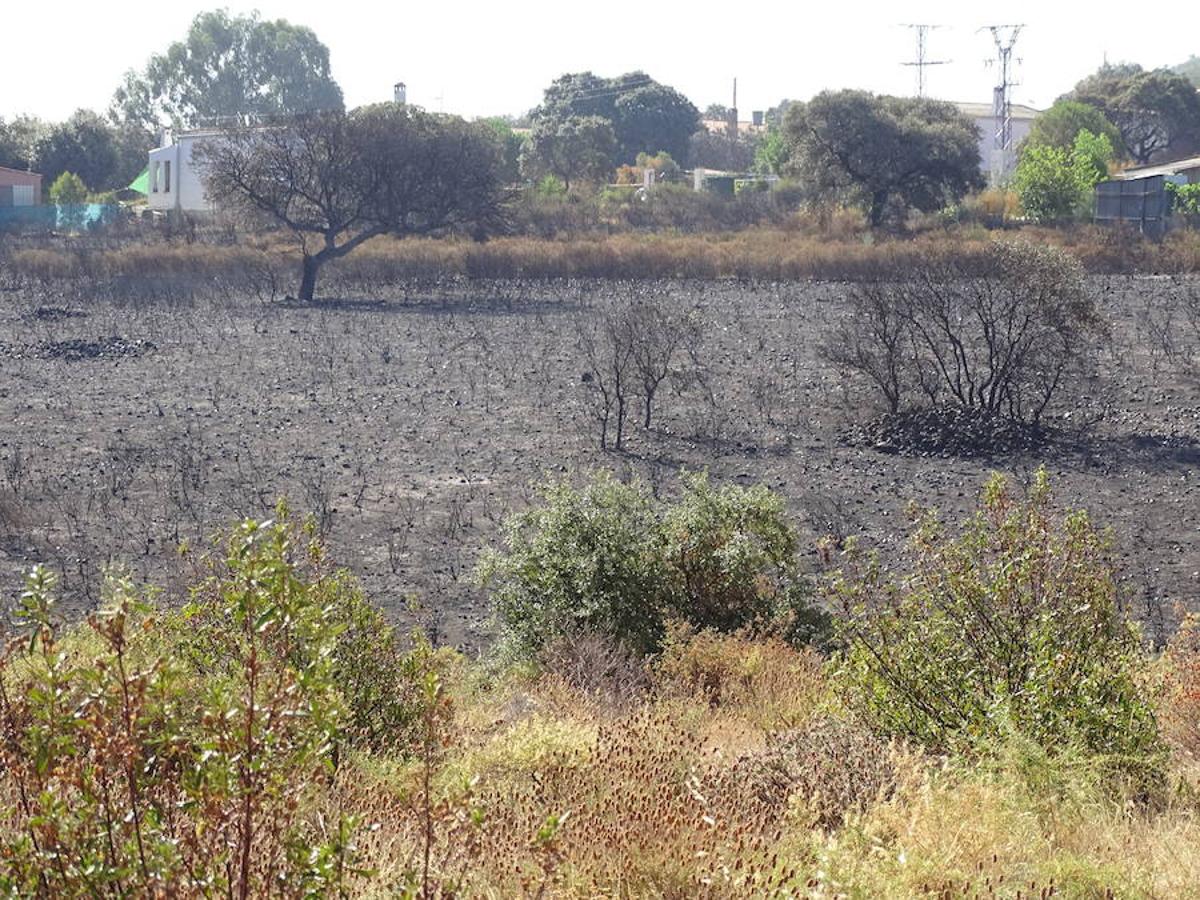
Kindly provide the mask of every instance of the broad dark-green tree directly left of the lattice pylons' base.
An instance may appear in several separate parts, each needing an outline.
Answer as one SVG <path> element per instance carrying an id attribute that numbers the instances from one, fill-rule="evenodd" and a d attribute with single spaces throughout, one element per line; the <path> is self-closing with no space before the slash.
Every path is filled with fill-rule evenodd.
<path id="1" fill-rule="evenodd" d="M 787 174 L 830 202 L 866 210 L 872 227 L 936 211 L 983 185 L 979 136 L 953 104 L 865 91 L 822 92 L 784 120 Z"/>

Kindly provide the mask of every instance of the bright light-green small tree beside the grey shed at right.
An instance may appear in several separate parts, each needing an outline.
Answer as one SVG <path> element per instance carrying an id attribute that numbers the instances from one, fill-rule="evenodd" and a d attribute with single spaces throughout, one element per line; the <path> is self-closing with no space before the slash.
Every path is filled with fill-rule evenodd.
<path id="1" fill-rule="evenodd" d="M 1084 212 L 1092 188 L 1108 176 L 1112 144 L 1103 134 L 1081 131 L 1070 150 L 1043 144 L 1021 155 L 1013 179 L 1025 215 L 1054 222 Z"/>

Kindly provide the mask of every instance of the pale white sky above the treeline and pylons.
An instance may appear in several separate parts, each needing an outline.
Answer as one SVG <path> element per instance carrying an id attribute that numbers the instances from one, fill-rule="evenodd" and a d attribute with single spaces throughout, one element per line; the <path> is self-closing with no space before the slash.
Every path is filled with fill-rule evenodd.
<path id="1" fill-rule="evenodd" d="M 1105 59 L 1146 67 L 1200 54 L 1193 2 L 1135 8 L 1102 2 L 1007 4 L 792 2 L 696 0 L 690 4 L 508 2 L 373 4 L 362 0 L 212 0 L 211 4 L 6 1 L 0 11 L 0 116 L 62 119 L 76 108 L 103 112 L 122 72 L 181 38 L 197 12 L 258 8 L 312 28 L 330 49 L 348 106 L 390 100 L 394 82 L 427 109 L 467 116 L 517 114 L 535 106 L 563 72 L 614 76 L 641 68 L 701 109 L 730 102 L 746 114 L 826 88 L 914 92 L 900 62 L 916 53 L 901 23 L 935 23 L 928 94 L 990 102 L 995 50 L 985 24 L 1024 23 L 1014 100 L 1048 106 Z M 1109 12 L 1114 10 L 1114 12 Z M 58 23 L 58 24 L 56 24 Z M 1187 23 L 1187 24 L 1184 24 Z M 748 115 L 745 118 L 749 118 Z"/>

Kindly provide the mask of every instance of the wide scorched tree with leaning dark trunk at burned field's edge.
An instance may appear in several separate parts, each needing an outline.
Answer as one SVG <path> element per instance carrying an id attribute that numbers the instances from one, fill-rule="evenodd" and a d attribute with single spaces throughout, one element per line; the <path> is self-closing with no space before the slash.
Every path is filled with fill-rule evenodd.
<path id="1" fill-rule="evenodd" d="M 200 144 L 196 161 L 211 197 L 300 239 L 301 300 L 322 265 L 371 238 L 479 236 L 504 224 L 494 132 L 397 103 L 241 127 Z"/>

